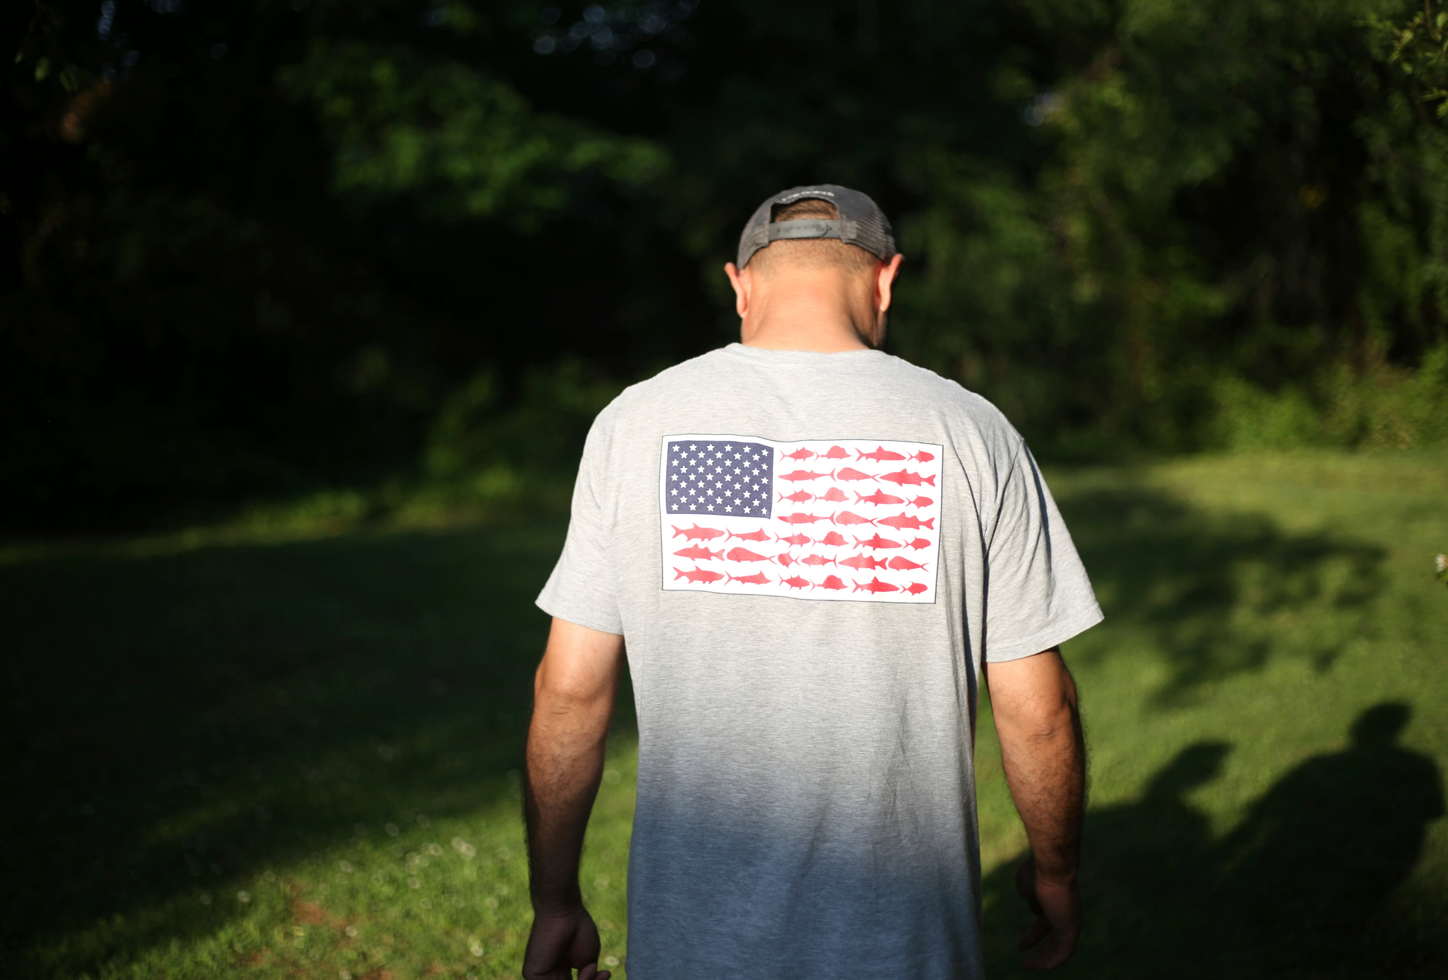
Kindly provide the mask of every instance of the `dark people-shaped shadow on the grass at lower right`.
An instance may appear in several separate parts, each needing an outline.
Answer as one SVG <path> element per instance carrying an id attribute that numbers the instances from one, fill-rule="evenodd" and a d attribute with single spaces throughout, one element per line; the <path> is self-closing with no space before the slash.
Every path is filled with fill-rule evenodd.
<path id="1" fill-rule="evenodd" d="M 1225 743 L 1189 745 L 1138 801 L 1092 811 L 1070 973 L 1448 976 L 1442 896 L 1409 880 L 1444 815 L 1436 764 L 1399 744 L 1409 717 L 1402 704 L 1364 711 L 1347 748 L 1292 769 L 1221 840 L 1187 796 L 1218 777 Z M 1030 921 L 1015 863 L 985 883 L 989 976 L 1019 973 L 1014 942 Z"/>

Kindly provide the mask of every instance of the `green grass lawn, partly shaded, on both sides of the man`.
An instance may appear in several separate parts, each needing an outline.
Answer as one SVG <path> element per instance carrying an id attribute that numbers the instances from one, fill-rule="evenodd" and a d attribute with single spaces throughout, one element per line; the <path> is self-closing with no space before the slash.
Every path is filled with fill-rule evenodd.
<path id="1" fill-rule="evenodd" d="M 1050 476 L 1108 612 L 1066 650 L 1093 751 L 1069 976 L 1448 976 L 1448 456 Z M 517 976 L 563 524 L 323 527 L 0 554 L 0 976 Z M 1003 977 L 1024 835 L 982 722 Z M 618 958 L 631 730 L 584 870 Z"/>

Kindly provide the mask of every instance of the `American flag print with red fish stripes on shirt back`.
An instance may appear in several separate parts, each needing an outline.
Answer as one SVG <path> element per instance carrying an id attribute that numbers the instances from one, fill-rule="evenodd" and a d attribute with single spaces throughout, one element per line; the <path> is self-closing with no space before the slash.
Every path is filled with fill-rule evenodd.
<path id="1" fill-rule="evenodd" d="M 665 436 L 663 588 L 931 604 L 943 457 L 898 440 Z"/>

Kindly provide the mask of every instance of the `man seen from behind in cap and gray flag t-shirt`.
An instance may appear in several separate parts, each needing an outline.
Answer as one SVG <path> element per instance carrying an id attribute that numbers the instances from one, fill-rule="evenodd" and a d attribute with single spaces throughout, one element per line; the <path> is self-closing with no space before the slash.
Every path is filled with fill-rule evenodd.
<path id="1" fill-rule="evenodd" d="M 835 185 L 765 201 L 741 342 L 599 413 L 529 732 L 530 980 L 605 977 L 578 889 L 624 664 L 628 974 L 979 977 L 977 679 L 1031 842 L 1027 967 L 1070 957 L 1085 747 L 1058 644 L 1100 609 L 1021 437 L 877 350 L 901 256 Z"/>

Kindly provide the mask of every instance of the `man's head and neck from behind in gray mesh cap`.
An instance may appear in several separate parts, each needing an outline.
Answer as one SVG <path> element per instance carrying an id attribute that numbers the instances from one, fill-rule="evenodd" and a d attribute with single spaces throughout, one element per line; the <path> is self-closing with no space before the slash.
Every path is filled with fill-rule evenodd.
<path id="1" fill-rule="evenodd" d="M 891 223 L 864 194 L 821 184 L 770 197 L 725 266 L 744 343 L 879 346 L 899 263 Z"/>

